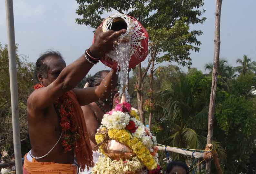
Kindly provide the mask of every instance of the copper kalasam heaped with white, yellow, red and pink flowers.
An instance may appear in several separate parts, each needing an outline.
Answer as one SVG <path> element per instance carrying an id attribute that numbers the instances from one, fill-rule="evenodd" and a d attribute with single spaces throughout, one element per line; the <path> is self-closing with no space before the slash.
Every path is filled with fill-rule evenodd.
<path id="1" fill-rule="evenodd" d="M 95 140 L 103 155 L 94 165 L 93 174 L 133 174 L 145 169 L 160 173 L 156 137 L 129 103 L 117 104 L 103 116 Z"/>

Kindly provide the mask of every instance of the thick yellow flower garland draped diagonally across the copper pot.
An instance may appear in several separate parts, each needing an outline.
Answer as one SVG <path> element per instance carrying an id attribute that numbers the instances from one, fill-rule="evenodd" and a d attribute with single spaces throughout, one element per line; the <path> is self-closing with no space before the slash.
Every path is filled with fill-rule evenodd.
<path id="1" fill-rule="evenodd" d="M 126 129 L 110 129 L 108 131 L 109 138 L 115 139 L 116 141 L 123 143 L 130 147 L 137 157 L 143 162 L 143 164 L 148 168 L 148 170 L 154 170 L 157 168 L 157 164 L 150 154 L 149 150 L 138 138 L 130 136 L 130 132 Z M 104 137 L 104 135 L 103 135 Z M 96 137 L 95 137 L 96 139 Z M 103 138 L 97 137 L 98 141 Z M 97 141 L 97 140 L 96 140 Z M 97 143 L 98 143 L 97 141 Z M 100 143 L 100 142 L 99 142 Z M 102 150 L 103 151 L 103 150 Z"/>

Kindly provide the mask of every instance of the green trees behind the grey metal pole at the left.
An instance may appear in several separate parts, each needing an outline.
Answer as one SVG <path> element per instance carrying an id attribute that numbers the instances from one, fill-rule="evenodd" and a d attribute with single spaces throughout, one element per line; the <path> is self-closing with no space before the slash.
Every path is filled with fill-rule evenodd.
<path id="1" fill-rule="evenodd" d="M 12 158 L 14 150 L 8 60 L 7 45 L 3 47 L 0 43 L 0 151 L 2 152 L 2 150 L 5 150 L 8 153 L 6 158 Z M 26 102 L 29 94 L 33 90 L 32 79 L 34 64 L 27 62 L 25 58 L 17 54 L 17 45 L 16 64 L 21 145 L 22 155 L 25 155 L 25 153 L 30 149 L 26 119 Z"/>

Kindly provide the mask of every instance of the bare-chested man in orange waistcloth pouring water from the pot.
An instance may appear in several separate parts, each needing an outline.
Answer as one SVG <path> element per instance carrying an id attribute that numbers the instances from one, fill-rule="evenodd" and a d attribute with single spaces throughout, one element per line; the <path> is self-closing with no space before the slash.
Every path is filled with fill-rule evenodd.
<path id="1" fill-rule="evenodd" d="M 39 84 L 27 100 L 27 117 L 32 150 L 25 155 L 24 173 L 76 173 L 92 166 L 92 149 L 80 106 L 105 99 L 111 93 L 114 70 L 97 87 L 74 89 L 92 66 L 113 48 L 113 40 L 125 30 L 95 32 L 95 42 L 82 57 L 66 66 L 57 52 L 47 52 L 36 62 Z M 111 81 L 113 80 L 113 81 Z"/>

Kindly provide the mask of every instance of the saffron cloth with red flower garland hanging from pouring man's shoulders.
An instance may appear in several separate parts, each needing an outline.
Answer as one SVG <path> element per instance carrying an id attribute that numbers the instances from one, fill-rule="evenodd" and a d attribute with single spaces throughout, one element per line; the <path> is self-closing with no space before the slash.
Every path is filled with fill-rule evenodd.
<path id="1" fill-rule="evenodd" d="M 34 89 L 44 87 L 36 84 Z M 80 169 L 93 166 L 93 151 L 87 133 L 84 114 L 75 93 L 71 90 L 54 102 L 62 128 L 61 142 L 64 153 L 74 151 Z"/>

